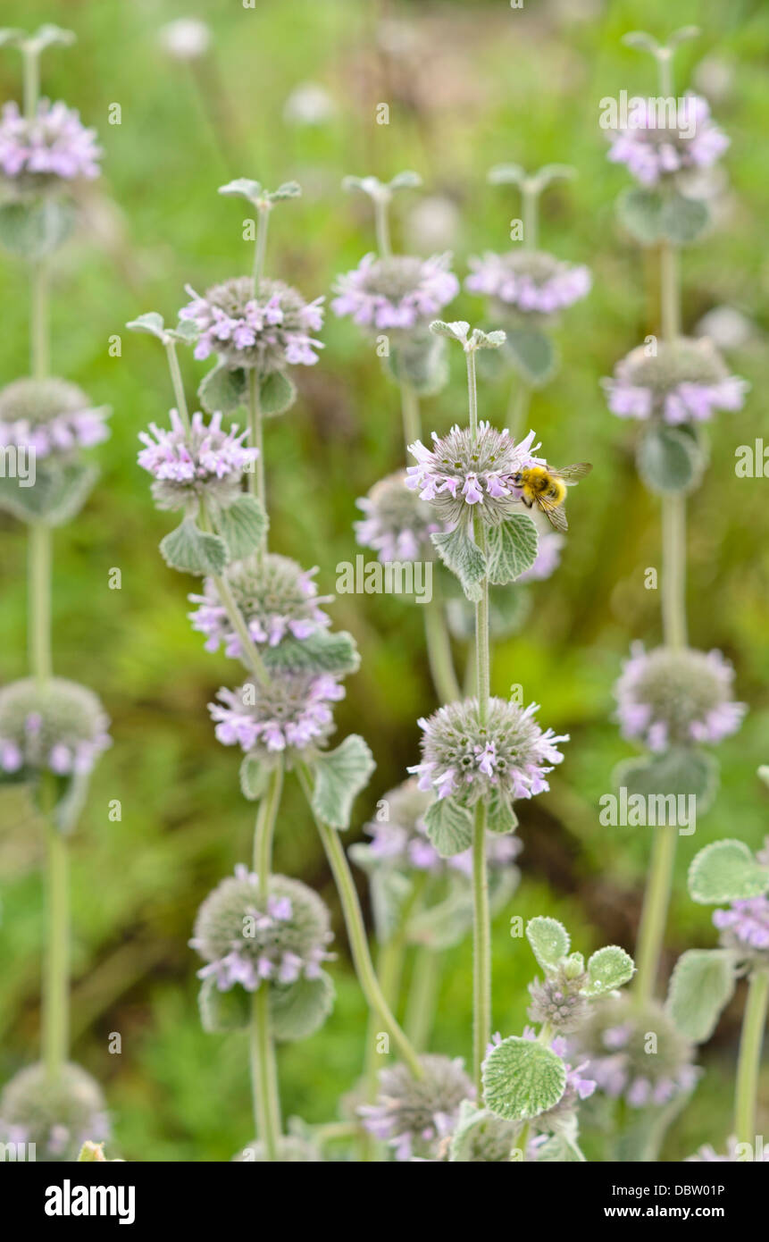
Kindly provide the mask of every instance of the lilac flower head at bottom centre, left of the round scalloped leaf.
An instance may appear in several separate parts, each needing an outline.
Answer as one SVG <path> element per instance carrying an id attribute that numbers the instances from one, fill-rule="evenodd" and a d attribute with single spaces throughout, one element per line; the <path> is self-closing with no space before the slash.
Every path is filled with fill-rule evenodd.
<path id="1" fill-rule="evenodd" d="M 389 1143 L 396 1160 L 446 1159 L 460 1104 L 475 1094 L 461 1057 L 429 1054 L 420 1064 L 421 1078 L 401 1062 L 386 1066 L 376 1102 L 358 1108 L 365 1129 Z"/>

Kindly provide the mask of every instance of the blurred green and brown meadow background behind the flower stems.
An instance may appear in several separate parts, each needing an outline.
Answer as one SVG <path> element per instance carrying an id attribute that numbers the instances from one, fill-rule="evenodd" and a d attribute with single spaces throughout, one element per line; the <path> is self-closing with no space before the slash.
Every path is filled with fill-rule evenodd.
<path id="1" fill-rule="evenodd" d="M 181 63 L 163 51 L 159 29 L 180 16 L 209 24 L 202 61 Z M 709 93 L 732 135 L 729 181 L 716 201 L 719 227 L 683 261 L 685 329 L 714 307 L 747 317 L 728 358 L 753 394 L 742 414 L 722 415 L 712 428 L 711 469 L 689 505 L 691 641 L 734 661 L 738 697 L 750 713 L 719 750 L 716 805 L 696 836 L 681 840 L 666 970 L 685 948 L 714 943 L 709 912 L 686 895 L 693 854 L 727 835 L 757 847 L 769 823 L 755 777 L 769 758 L 769 483 L 734 474 L 735 447 L 762 435 L 769 379 L 769 185 L 760 143 L 769 130 L 769 9 L 760 0 L 682 0 L 672 16 L 677 26 L 702 27 L 677 57 L 677 86 L 693 81 Z M 240 0 L 6 0 L 4 21 L 25 29 L 53 21 L 77 32 L 73 48 L 46 53 L 43 93 L 78 107 L 106 152 L 104 176 L 83 200 L 84 225 L 58 257 L 53 302 L 55 371 L 114 410 L 112 438 L 96 451 L 101 483 L 80 518 L 56 534 L 56 671 L 102 696 L 114 737 L 72 847 L 73 1058 L 104 1083 L 127 1159 L 226 1160 L 252 1136 L 246 1047 L 239 1036 L 201 1032 L 186 941 L 202 897 L 248 854 L 252 809 L 240 796 L 237 756 L 214 740 L 206 712 L 216 688 L 232 683 L 232 666 L 206 655 L 186 621 L 194 582 L 158 555 L 169 522 L 154 512 L 135 465 L 138 431 L 150 420 L 163 424 L 171 404 L 163 350 L 124 323 L 150 309 L 173 320 L 186 282 L 205 288 L 247 268 L 247 212 L 216 195 L 232 176 L 268 186 L 301 181 L 303 197 L 273 215 L 268 273 L 313 298 L 374 246 L 366 202 L 340 191 L 347 173 L 389 178 L 417 169 L 425 189 L 396 202 L 395 237 L 401 246 L 450 246 L 463 274 L 468 255 L 506 247 L 508 220 L 518 215 L 509 188 L 487 186 L 492 164 L 578 168 L 574 183 L 544 200 L 542 245 L 588 263 L 594 289 L 564 317 L 562 368 L 535 395 L 530 422 L 550 460 L 589 458 L 595 471 L 571 498 L 560 570 L 534 587 L 524 631 L 493 661 L 498 692 L 522 682 L 526 700 L 542 703 L 543 723 L 571 734 L 552 795 L 521 809 L 523 881 L 496 924 L 494 1028 L 517 1031 L 533 960 L 509 939 L 508 917 L 553 914 L 568 923 L 576 948 L 614 940 L 631 949 L 648 856 L 644 830 L 598 822 L 611 769 L 632 753 L 611 722 L 612 682 L 632 638 L 660 640 L 658 594 L 644 589 L 645 568 L 660 564 L 657 505 L 636 479 L 634 428 L 607 414 L 599 389 L 616 359 L 658 327 L 655 265 L 615 222 L 614 200 L 627 178 L 606 161 L 598 114 L 600 98 L 620 88 L 656 93 L 651 61 L 624 48 L 620 36 L 645 29 L 665 37 L 671 5 L 257 0 L 252 10 Z M 319 124 L 286 118 L 286 101 L 303 83 L 322 86 L 333 101 Z M 0 94 L 20 94 L 14 51 L 0 52 Z M 380 102 L 390 106 L 389 125 L 375 123 Z M 114 103 L 119 125 L 108 124 Z M 415 215 L 425 196 L 441 202 Z M 432 241 L 430 230 L 442 233 Z M 0 260 L 0 272 L 5 384 L 27 366 L 27 287 L 12 258 Z M 447 317 L 477 322 L 482 314 L 481 302 L 462 294 Z M 116 333 L 119 358 L 108 351 Z M 268 426 L 266 452 L 272 546 L 318 564 L 327 592 L 337 563 L 355 553 L 355 498 L 401 465 L 403 447 L 398 392 L 370 344 L 333 319 L 323 339 L 319 365 L 299 369 L 298 404 Z M 450 386 L 425 404 L 426 430 L 465 417 L 455 353 Z M 205 366 L 186 355 L 184 369 L 191 399 Z M 483 416 L 503 420 L 506 402 L 504 383 L 482 386 Z M 113 566 L 122 570 L 121 590 L 108 589 Z M 0 676 L 10 681 L 26 668 L 26 592 L 24 530 L 7 517 L 0 517 Z M 417 609 L 348 595 L 330 611 L 363 655 L 337 713 L 339 737 L 363 733 L 379 765 L 357 804 L 360 825 L 415 761 L 416 718 L 436 703 Z M 121 822 L 108 818 L 113 799 L 122 802 Z M 357 827 L 350 840 L 358 835 Z M 36 833 L 0 832 L 0 1081 L 37 1054 L 40 862 Z M 280 1052 L 286 1113 L 330 1120 L 358 1076 L 365 1016 L 325 861 L 291 782 L 276 868 L 316 887 L 335 912 L 337 1007 L 309 1043 Z M 738 991 L 702 1052 L 707 1073 L 668 1135 L 667 1159 L 703 1141 L 721 1145 L 729 1131 L 742 1005 Z M 121 1056 L 108 1052 L 114 1031 Z M 447 954 L 434 1048 L 470 1051 L 468 944 Z M 764 1087 L 759 1129 L 767 1131 L 767 1078 Z"/>

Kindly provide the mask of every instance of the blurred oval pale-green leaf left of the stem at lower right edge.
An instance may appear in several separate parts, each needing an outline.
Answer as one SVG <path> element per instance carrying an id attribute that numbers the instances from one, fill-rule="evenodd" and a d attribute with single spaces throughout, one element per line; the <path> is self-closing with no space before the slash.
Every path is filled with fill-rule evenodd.
<path id="1" fill-rule="evenodd" d="M 676 963 L 667 1012 L 678 1030 L 704 1043 L 734 994 L 734 955 L 727 949 L 688 949 Z"/>

